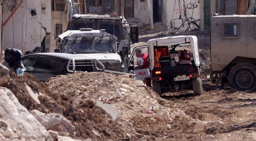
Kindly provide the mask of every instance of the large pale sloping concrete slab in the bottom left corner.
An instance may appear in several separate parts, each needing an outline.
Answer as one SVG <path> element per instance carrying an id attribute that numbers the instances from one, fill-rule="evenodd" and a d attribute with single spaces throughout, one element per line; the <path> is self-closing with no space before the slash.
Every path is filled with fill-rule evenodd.
<path id="1" fill-rule="evenodd" d="M 4 127 L 2 129 L 4 131 L 3 137 L 18 135 L 25 136 L 27 139 L 52 140 L 45 127 L 18 102 L 18 99 L 9 89 L 1 88 L 0 94 L 0 113 L 5 113 L 1 114 L 0 120 L 8 123 L 10 127 L 17 127 L 14 133 L 10 128 L 2 126 Z"/>

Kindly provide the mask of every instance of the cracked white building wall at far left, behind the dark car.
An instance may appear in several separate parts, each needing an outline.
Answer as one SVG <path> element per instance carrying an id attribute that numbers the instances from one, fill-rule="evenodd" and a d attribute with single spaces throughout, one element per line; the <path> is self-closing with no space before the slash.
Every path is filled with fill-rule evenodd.
<path id="1" fill-rule="evenodd" d="M 7 4 L 11 6 L 13 3 L 8 0 L 4 5 L 3 22 L 11 14 Z M 41 14 L 41 4 L 46 8 L 44 14 Z M 9 22 L 3 26 L 2 45 L 7 48 L 20 49 L 24 53 L 41 46 L 41 41 L 46 34 L 41 25 L 47 29 L 47 32 L 51 32 L 51 0 L 24 0 L 21 6 Z M 32 9 L 36 10 L 37 15 L 31 15 Z"/>

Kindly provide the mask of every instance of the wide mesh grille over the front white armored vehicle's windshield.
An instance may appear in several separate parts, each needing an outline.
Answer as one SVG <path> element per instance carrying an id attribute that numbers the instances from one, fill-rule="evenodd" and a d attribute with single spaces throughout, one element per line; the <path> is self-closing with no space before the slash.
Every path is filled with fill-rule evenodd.
<path id="1" fill-rule="evenodd" d="M 64 40 L 66 53 L 105 53 L 117 50 L 116 40 L 110 37 L 69 37 Z"/>

